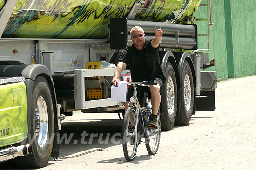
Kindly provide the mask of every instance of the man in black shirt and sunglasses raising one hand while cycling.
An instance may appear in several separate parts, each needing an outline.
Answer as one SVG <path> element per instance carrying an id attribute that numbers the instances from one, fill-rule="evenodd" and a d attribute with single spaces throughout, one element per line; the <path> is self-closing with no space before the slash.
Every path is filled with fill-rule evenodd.
<path id="1" fill-rule="evenodd" d="M 166 78 L 162 72 L 159 63 L 159 44 L 162 40 L 163 30 L 155 28 L 155 36 L 152 40 L 146 40 L 144 30 L 135 26 L 131 29 L 130 35 L 133 45 L 123 50 L 117 67 L 114 72 L 112 83 L 118 86 L 119 76 L 126 66 L 130 66 L 131 78 L 135 82 L 156 82 L 157 85 L 150 85 L 152 115 L 150 116 L 147 126 L 158 126 L 157 113 L 161 102 L 161 91 Z M 128 94 L 133 94 L 132 89 L 128 90 Z M 140 93 L 138 98 L 143 96 Z M 131 96 L 127 96 L 129 99 Z M 129 102 L 125 103 L 125 109 L 128 108 Z"/>

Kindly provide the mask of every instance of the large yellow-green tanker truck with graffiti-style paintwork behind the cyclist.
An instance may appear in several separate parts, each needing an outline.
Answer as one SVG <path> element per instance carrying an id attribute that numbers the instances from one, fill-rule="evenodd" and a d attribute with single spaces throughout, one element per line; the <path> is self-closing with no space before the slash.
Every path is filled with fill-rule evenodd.
<path id="1" fill-rule="evenodd" d="M 216 72 L 201 71 L 214 61 L 198 49 L 199 6 L 210 12 L 210 0 L 0 0 L 0 162 L 44 167 L 59 156 L 65 116 L 124 112 L 110 99 L 110 82 L 133 26 L 146 38 L 165 30 L 162 129 L 214 110 Z M 120 79 L 129 76 L 127 68 Z"/>

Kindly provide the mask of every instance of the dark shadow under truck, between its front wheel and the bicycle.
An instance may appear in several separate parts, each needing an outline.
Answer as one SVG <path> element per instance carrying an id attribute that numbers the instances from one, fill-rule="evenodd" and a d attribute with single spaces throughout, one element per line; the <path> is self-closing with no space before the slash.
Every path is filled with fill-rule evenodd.
<path id="1" fill-rule="evenodd" d="M 60 159 L 121 144 L 122 121 L 119 119 L 75 120 L 61 124 L 61 128 Z"/>

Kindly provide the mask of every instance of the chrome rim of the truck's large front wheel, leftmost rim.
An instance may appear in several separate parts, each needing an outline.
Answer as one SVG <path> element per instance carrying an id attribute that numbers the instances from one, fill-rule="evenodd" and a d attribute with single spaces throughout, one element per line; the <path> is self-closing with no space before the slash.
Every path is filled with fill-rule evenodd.
<path id="1" fill-rule="evenodd" d="M 42 96 L 38 97 L 35 107 L 35 133 L 37 143 L 40 147 L 43 147 L 47 142 L 48 134 L 48 112 L 47 105 Z"/>

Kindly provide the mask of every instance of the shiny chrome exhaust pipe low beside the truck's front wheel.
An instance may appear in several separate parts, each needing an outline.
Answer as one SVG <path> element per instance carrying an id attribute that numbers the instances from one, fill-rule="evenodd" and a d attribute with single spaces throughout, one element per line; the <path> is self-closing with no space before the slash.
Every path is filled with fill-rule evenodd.
<path id="1" fill-rule="evenodd" d="M 31 154 L 31 153 L 32 153 L 32 146 L 30 144 L 5 148 L 3 150 L 0 150 L 0 162 L 13 159 L 17 156 L 26 156 L 27 154 Z"/>

